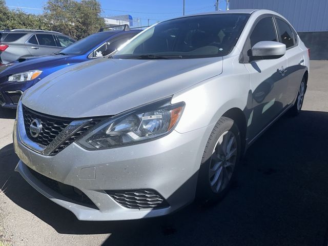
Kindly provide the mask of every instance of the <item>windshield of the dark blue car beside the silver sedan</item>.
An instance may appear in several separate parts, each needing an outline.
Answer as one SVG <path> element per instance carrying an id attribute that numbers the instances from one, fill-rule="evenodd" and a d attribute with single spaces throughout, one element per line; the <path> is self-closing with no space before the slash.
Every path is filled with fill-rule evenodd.
<path id="1" fill-rule="evenodd" d="M 109 33 L 109 32 L 98 32 L 92 34 L 81 40 L 78 40 L 76 43 L 60 51 L 60 53 L 68 54 L 68 55 L 85 54 L 90 49 L 97 48 L 95 46 L 99 45 L 99 43 L 101 42 L 105 42 L 112 35 L 114 35 L 114 33 Z"/>

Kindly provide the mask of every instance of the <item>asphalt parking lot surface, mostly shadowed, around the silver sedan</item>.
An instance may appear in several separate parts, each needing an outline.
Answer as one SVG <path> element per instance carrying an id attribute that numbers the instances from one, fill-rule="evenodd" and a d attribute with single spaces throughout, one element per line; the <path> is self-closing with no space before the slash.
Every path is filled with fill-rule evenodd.
<path id="1" fill-rule="evenodd" d="M 15 112 L 0 110 L 0 241 L 11 245 L 327 245 L 328 61 L 311 61 L 303 111 L 248 150 L 230 193 L 161 218 L 78 221 L 14 172 Z"/>

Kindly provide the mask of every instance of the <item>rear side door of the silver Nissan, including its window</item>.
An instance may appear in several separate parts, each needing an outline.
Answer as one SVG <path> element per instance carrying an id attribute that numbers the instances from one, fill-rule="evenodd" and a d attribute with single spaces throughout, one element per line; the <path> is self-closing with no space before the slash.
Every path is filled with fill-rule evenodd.
<path id="1" fill-rule="evenodd" d="M 306 69 L 304 52 L 298 47 L 298 36 L 294 29 L 280 17 L 275 16 L 275 20 L 279 32 L 279 42 L 286 45 L 287 70 L 285 75 L 288 77 L 288 86 L 285 90 L 285 103 L 291 104 L 296 98 Z"/>

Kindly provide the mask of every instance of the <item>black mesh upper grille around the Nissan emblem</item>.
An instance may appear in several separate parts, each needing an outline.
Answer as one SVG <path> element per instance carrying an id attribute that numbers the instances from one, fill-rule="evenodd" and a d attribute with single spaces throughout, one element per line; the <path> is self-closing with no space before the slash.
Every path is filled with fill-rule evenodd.
<path id="1" fill-rule="evenodd" d="M 25 131 L 28 138 L 43 146 L 48 146 L 50 142 L 53 139 L 55 139 L 55 137 L 74 120 L 71 118 L 54 117 L 54 116 L 37 113 L 25 106 L 23 106 L 23 116 L 24 116 Z M 37 137 L 32 137 L 30 133 L 30 125 L 34 119 L 39 119 L 42 124 L 42 132 L 40 132 Z M 55 149 L 52 152 L 52 155 L 57 154 L 58 152 L 64 150 L 67 146 L 72 144 L 72 142 L 77 140 L 84 133 L 86 133 L 91 127 L 93 127 L 100 121 L 101 118 L 92 119 L 88 125 L 84 126 L 79 131 L 75 132 L 65 142 L 63 142 L 63 144 L 61 144 L 57 149 Z"/>

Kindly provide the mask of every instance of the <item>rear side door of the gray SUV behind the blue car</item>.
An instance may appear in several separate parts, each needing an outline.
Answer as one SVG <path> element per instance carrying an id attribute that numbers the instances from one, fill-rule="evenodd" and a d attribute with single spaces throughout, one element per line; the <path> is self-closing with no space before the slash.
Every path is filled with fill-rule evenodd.
<path id="1" fill-rule="evenodd" d="M 49 55 L 63 49 L 57 47 L 52 34 L 34 34 L 27 41 L 26 47 L 32 56 Z"/>

